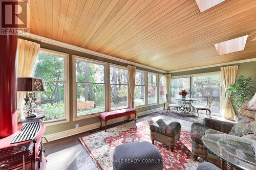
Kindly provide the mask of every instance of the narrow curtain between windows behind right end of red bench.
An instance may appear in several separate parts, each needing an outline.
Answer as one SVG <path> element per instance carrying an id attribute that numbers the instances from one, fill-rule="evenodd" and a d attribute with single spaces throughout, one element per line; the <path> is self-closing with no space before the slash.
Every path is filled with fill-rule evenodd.
<path id="1" fill-rule="evenodd" d="M 135 109 L 135 104 L 134 104 L 134 91 L 135 91 L 135 74 L 136 74 L 136 67 L 132 65 L 127 66 L 128 69 L 128 80 L 129 80 L 129 103 L 130 103 L 130 108 Z M 130 119 L 137 119 L 135 117 L 135 114 L 131 115 Z"/>

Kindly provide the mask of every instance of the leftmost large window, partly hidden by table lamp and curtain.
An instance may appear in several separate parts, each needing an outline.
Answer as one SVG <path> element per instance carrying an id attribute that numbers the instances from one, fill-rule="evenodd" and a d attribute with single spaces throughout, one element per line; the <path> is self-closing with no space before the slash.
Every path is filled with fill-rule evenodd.
<path id="1" fill-rule="evenodd" d="M 38 105 L 46 111 L 45 121 L 68 119 L 67 55 L 41 50 L 33 74 L 42 79 L 45 91 L 37 92 Z"/>

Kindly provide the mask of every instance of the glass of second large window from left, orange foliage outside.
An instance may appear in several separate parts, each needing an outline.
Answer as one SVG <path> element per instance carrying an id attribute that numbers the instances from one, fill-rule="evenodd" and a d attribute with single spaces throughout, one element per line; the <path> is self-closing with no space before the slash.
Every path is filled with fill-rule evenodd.
<path id="1" fill-rule="evenodd" d="M 105 111 L 105 65 L 76 59 L 76 114 Z"/>

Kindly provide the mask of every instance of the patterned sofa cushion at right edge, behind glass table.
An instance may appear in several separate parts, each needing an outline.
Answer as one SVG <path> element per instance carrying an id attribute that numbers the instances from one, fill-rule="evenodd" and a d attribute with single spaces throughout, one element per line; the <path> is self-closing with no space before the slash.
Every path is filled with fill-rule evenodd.
<path id="1" fill-rule="evenodd" d="M 230 135 L 244 136 L 246 134 L 253 134 L 253 128 L 250 126 L 250 123 L 254 122 L 253 119 L 243 117 L 239 122 L 233 126 L 231 131 L 228 133 Z"/>

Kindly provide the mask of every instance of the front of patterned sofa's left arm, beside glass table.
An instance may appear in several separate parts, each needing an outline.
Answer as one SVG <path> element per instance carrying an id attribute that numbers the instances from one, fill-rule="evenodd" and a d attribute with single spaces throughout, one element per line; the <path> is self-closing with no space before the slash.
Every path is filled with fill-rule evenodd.
<path id="1" fill-rule="evenodd" d="M 206 126 L 203 126 L 200 123 L 194 122 L 191 125 L 190 138 L 192 140 L 202 144 L 203 143 L 202 137 L 208 129 L 210 129 L 210 128 L 207 128 Z"/>

